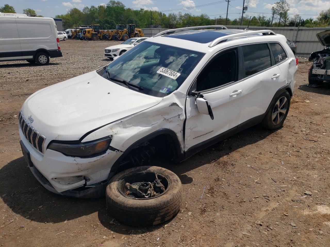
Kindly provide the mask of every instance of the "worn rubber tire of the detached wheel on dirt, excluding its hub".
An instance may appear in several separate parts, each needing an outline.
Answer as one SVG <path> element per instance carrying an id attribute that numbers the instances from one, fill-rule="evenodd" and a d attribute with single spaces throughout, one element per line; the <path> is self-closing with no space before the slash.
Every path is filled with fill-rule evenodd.
<path id="1" fill-rule="evenodd" d="M 155 171 L 166 176 L 170 185 L 164 194 L 148 199 L 131 199 L 118 191 L 122 178 L 143 171 Z M 157 166 L 140 166 L 116 174 L 106 188 L 106 201 L 109 212 L 121 223 L 130 226 L 152 226 L 173 218 L 182 203 L 182 184 L 173 172 Z"/>

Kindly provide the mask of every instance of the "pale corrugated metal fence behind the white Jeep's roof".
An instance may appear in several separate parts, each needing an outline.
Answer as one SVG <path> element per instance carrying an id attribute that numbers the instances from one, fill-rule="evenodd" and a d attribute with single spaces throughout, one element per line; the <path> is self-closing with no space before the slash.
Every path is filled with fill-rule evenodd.
<path id="1" fill-rule="evenodd" d="M 247 26 L 227 26 L 228 29 L 244 29 Z M 275 33 L 284 35 L 287 39 L 292 40 L 297 45 L 297 56 L 309 57 L 313 51 L 322 50 L 325 48 L 320 44 L 316 38 L 316 34 L 325 30 L 330 29 L 326 28 L 308 28 L 308 27 L 257 27 L 250 26 L 249 30 L 263 30 L 269 29 Z M 156 28 L 147 28 L 143 29 L 143 32 L 146 37 L 151 37 L 161 31 L 167 29 L 156 29 Z"/>

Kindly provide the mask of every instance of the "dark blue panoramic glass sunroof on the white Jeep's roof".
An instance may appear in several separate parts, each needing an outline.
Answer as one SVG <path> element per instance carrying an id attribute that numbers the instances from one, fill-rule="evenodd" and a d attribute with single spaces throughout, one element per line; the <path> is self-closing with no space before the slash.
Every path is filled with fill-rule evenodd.
<path id="1" fill-rule="evenodd" d="M 176 33 L 176 34 L 167 35 L 165 37 L 194 41 L 194 42 L 198 42 L 198 43 L 209 43 L 222 36 L 227 36 L 230 34 L 237 34 L 237 33 L 241 33 L 241 32 L 242 32 L 242 30 L 230 30 L 230 29 L 189 30 L 189 31 L 184 31 L 184 32 Z"/>

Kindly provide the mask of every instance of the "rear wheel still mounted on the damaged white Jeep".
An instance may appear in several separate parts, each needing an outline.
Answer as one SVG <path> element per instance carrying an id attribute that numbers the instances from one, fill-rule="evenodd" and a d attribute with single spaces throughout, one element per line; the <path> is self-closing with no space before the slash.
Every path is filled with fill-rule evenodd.
<path id="1" fill-rule="evenodd" d="M 290 108 L 290 94 L 284 91 L 271 105 L 261 125 L 269 130 L 281 128 Z"/>

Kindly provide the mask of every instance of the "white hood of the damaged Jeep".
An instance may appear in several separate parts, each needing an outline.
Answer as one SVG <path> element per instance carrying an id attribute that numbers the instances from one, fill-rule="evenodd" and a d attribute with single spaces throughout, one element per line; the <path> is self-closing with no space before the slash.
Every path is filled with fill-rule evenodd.
<path id="1" fill-rule="evenodd" d="M 79 140 L 82 135 L 143 111 L 162 98 L 118 85 L 92 71 L 31 95 L 22 106 L 32 126 L 51 140 Z"/>

